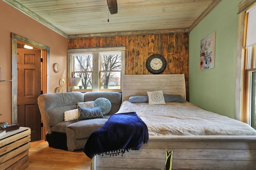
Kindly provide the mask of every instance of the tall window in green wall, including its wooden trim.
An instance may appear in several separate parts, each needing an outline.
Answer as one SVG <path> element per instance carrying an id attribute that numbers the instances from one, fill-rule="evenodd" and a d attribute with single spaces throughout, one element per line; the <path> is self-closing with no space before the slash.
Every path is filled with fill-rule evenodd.
<path id="1" fill-rule="evenodd" d="M 235 119 L 256 129 L 256 3 L 241 2 L 238 14 Z"/>

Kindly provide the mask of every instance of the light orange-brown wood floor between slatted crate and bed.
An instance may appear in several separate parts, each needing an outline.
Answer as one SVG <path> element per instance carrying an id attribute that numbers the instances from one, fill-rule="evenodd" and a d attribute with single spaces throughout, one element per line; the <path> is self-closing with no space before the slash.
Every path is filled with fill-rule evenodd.
<path id="1" fill-rule="evenodd" d="M 26 170 L 90 170 L 91 159 L 82 150 L 75 152 L 48 147 L 48 142 L 31 142 Z"/>

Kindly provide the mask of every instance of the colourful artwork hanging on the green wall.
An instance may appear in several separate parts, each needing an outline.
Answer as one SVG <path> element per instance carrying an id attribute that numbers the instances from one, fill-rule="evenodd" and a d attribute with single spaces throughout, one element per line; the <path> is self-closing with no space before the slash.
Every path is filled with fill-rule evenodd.
<path id="1" fill-rule="evenodd" d="M 200 41 L 200 70 L 214 68 L 215 32 Z"/>

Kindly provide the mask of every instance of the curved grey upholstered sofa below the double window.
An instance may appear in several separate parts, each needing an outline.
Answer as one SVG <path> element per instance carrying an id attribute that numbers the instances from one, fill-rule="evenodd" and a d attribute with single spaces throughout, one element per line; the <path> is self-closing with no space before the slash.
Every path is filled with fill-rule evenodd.
<path id="1" fill-rule="evenodd" d="M 86 120 L 64 120 L 64 112 L 78 108 L 79 102 L 106 98 L 111 109 L 104 118 Z M 116 113 L 122 103 L 119 92 L 63 92 L 42 94 L 38 97 L 42 121 L 46 128 L 46 141 L 49 147 L 74 151 L 82 149 L 90 134 L 99 129 L 108 118 Z"/>

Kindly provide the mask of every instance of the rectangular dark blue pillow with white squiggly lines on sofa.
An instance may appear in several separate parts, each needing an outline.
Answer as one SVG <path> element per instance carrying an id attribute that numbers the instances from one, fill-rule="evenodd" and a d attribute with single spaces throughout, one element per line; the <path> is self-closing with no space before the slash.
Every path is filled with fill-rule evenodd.
<path id="1" fill-rule="evenodd" d="M 93 107 L 93 108 L 86 108 L 86 107 L 78 105 L 77 107 L 78 107 L 77 121 L 87 120 L 87 119 L 104 118 L 100 106 Z"/>

